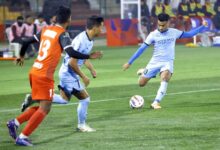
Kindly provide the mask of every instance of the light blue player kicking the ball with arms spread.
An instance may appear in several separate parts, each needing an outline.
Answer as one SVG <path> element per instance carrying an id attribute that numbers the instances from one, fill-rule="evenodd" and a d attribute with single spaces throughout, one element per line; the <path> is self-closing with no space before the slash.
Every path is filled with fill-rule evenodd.
<path id="1" fill-rule="evenodd" d="M 128 69 L 132 63 L 148 48 L 151 44 L 154 45 L 153 56 L 147 64 L 143 73 L 139 77 L 139 86 L 145 86 L 149 80 L 160 73 L 160 87 L 157 95 L 151 104 L 151 108 L 160 109 L 160 102 L 167 91 L 167 85 L 173 74 L 173 61 L 175 57 L 175 42 L 180 38 L 191 38 L 194 35 L 202 32 L 207 26 L 204 21 L 203 25 L 189 32 L 180 31 L 174 28 L 169 28 L 169 15 L 161 13 L 158 15 L 158 28 L 151 32 L 144 43 L 138 48 L 136 53 L 130 60 L 123 65 L 123 69 Z"/>

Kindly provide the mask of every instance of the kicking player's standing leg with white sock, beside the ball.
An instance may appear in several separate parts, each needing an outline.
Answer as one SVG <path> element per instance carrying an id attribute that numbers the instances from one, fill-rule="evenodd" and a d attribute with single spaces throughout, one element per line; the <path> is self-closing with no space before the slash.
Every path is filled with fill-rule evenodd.
<path id="1" fill-rule="evenodd" d="M 151 107 L 153 109 L 160 109 L 161 108 L 160 102 L 166 94 L 168 82 L 172 77 L 172 73 L 173 73 L 173 62 L 168 62 L 161 68 L 160 87 L 157 91 L 157 95 L 156 95 L 153 103 L 151 104 Z"/>

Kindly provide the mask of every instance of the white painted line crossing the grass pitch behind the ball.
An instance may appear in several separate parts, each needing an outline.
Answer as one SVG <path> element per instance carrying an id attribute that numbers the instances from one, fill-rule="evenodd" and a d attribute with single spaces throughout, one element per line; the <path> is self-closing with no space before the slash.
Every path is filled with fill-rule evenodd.
<path id="1" fill-rule="evenodd" d="M 166 95 L 172 96 L 172 95 L 181 95 L 181 94 L 191 94 L 191 93 L 201 93 L 201 92 L 211 92 L 211 91 L 220 91 L 220 88 L 216 89 L 205 89 L 205 90 L 194 90 L 194 91 L 185 91 L 185 92 L 176 92 L 176 93 L 168 93 Z M 154 97 L 155 95 L 148 95 L 143 97 Z M 128 99 L 130 97 L 118 97 L 118 98 L 110 98 L 110 99 L 103 99 L 103 100 L 95 100 L 91 101 L 90 103 L 100 103 L 100 102 L 108 102 L 108 101 L 116 101 L 119 99 Z M 68 103 L 68 104 L 53 104 L 53 107 L 63 107 L 63 106 L 71 106 L 71 105 L 77 105 L 78 103 Z M 7 110 L 0 110 L 0 113 L 5 112 L 13 112 L 13 111 L 20 111 L 20 109 L 7 109 Z"/>

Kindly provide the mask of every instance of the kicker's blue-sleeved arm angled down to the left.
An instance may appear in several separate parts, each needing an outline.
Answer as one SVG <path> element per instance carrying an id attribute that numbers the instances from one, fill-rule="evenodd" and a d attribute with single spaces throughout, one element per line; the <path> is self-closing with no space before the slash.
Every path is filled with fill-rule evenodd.
<path id="1" fill-rule="evenodd" d="M 138 50 L 133 54 L 127 63 L 123 65 L 123 70 L 128 69 L 132 63 L 149 47 L 147 43 L 143 43 Z"/>

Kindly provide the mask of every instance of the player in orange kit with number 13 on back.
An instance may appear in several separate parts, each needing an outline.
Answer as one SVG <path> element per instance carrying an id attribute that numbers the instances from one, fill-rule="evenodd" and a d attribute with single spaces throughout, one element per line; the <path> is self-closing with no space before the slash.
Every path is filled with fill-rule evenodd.
<path id="1" fill-rule="evenodd" d="M 41 33 L 34 35 L 23 42 L 20 58 L 17 64 L 23 65 L 24 54 L 30 43 L 40 42 L 39 54 L 30 73 L 29 80 L 32 88 L 32 98 L 39 101 L 39 106 L 30 107 L 27 111 L 7 123 L 10 136 L 17 145 L 33 146 L 29 140 L 31 133 L 40 125 L 50 111 L 54 91 L 54 71 L 63 50 L 73 58 L 88 59 L 100 58 L 101 52 L 85 55 L 75 51 L 71 39 L 66 32 L 66 27 L 71 21 L 71 11 L 66 7 L 59 7 L 56 14 L 57 24 L 42 29 Z M 21 134 L 17 136 L 19 125 L 27 122 Z"/>

